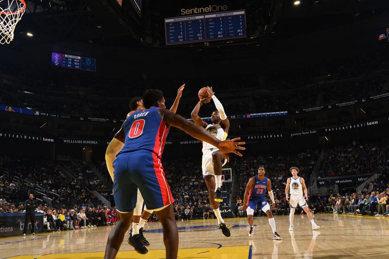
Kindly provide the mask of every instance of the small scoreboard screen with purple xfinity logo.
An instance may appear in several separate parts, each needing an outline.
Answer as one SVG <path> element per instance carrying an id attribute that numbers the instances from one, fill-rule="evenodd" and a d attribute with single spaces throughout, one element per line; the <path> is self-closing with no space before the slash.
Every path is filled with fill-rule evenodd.
<path id="1" fill-rule="evenodd" d="M 96 59 L 52 52 L 54 67 L 96 72 Z"/>

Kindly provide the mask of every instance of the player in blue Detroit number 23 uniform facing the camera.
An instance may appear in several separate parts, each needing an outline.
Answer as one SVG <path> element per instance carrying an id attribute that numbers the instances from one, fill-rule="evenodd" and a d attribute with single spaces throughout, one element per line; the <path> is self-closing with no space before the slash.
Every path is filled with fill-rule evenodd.
<path id="1" fill-rule="evenodd" d="M 248 236 L 252 237 L 254 234 L 254 210 L 256 206 L 258 206 L 261 207 L 269 219 L 269 224 L 274 233 L 273 239 L 281 240 L 281 237 L 276 230 L 276 223 L 274 221 L 273 214 L 271 213 L 270 206 L 265 199 L 266 191 L 269 192 L 272 202 L 271 210 L 273 210 L 275 202 L 273 190 L 271 190 L 271 181 L 265 177 L 265 168 L 260 167 L 258 169 L 258 175 L 255 175 L 248 180 L 245 191 L 244 206 L 247 212 L 248 224 L 250 225 Z"/>

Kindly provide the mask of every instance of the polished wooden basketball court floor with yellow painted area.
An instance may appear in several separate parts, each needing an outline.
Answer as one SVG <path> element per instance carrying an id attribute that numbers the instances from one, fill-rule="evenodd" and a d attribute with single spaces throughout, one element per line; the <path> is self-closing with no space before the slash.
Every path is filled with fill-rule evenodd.
<path id="1" fill-rule="evenodd" d="M 179 259 L 276 259 L 276 258 L 386 258 L 389 218 L 317 214 L 319 231 L 311 229 L 304 215 L 295 216 L 295 230 L 289 232 L 288 216 L 276 216 L 282 241 L 273 241 L 266 217 L 255 218 L 252 238 L 244 218 L 227 219 L 231 237 L 226 238 L 215 220 L 177 222 Z M 104 257 L 106 240 L 113 226 L 0 239 L 0 258 L 13 259 L 97 259 Z M 124 238 L 118 259 L 163 259 L 162 229 L 149 223 L 144 236 L 151 243 L 140 255 Z"/>

